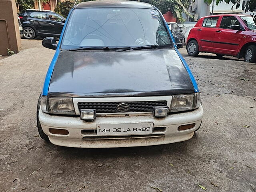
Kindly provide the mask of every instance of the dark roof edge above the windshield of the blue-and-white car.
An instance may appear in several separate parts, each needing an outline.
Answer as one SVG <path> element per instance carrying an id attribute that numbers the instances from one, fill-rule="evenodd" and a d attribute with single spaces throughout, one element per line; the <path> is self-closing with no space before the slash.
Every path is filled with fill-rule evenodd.
<path id="1" fill-rule="evenodd" d="M 77 4 L 74 8 L 144 8 L 144 9 L 156 9 L 148 3 L 136 2 L 136 1 L 120 1 L 120 0 L 104 0 L 104 1 L 88 1 Z"/>

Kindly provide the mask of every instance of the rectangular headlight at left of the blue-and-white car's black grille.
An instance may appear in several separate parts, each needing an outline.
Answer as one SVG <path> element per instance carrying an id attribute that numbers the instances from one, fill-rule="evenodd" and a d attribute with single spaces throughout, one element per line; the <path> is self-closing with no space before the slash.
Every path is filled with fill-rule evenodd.
<path id="1" fill-rule="evenodd" d="M 74 105 L 70 97 L 46 97 L 41 98 L 41 109 L 50 114 L 74 115 Z"/>

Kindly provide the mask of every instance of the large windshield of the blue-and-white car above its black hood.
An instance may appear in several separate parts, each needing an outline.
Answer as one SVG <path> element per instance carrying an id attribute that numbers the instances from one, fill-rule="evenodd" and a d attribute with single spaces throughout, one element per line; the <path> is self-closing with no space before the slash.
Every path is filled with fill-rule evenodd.
<path id="1" fill-rule="evenodd" d="M 78 47 L 172 46 L 157 10 L 141 8 L 84 8 L 72 12 L 62 49 Z"/>

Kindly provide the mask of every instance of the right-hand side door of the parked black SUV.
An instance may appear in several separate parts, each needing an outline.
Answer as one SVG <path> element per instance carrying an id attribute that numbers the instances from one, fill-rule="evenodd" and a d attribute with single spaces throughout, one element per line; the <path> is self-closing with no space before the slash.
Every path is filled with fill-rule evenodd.
<path id="1" fill-rule="evenodd" d="M 64 19 L 56 13 L 48 13 L 50 33 L 60 35 L 64 26 Z"/>

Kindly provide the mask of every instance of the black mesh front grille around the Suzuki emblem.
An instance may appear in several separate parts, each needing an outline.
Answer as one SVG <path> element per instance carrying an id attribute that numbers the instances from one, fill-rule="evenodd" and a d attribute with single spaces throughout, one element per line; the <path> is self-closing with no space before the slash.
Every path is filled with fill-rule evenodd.
<path id="1" fill-rule="evenodd" d="M 127 113 L 152 112 L 154 106 L 167 106 L 167 101 L 133 101 L 133 102 L 78 102 L 78 109 L 95 109 L 96 113 L 120 113 L 119 104 L 129 105 Z"/>

